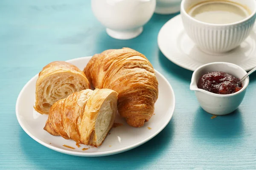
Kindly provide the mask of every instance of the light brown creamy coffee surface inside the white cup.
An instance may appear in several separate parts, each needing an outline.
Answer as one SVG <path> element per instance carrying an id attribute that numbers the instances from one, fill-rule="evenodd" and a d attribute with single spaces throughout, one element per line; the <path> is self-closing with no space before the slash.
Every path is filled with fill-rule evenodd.
<path id="1" fill-rule="evenodd" d="M 196 20 L 212 24 L 236 23 L 251 14 L 245 6 L 227 0 L 204 1 L 190 7 L 187 13 Z"/>

